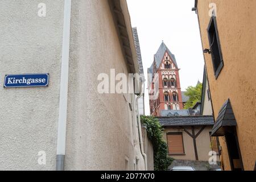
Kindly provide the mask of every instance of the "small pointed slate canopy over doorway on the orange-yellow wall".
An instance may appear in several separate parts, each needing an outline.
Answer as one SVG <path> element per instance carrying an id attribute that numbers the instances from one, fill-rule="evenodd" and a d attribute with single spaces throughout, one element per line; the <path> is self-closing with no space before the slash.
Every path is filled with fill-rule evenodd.
<path id="1" fill-rule="evenodd" d="M 212 137 L 224 136 L 229 131 L 233 131 L 233 127 L 237 126 L 230 100 L 226 101 L 218 113 L 217 121 L 212 129 Z"/>

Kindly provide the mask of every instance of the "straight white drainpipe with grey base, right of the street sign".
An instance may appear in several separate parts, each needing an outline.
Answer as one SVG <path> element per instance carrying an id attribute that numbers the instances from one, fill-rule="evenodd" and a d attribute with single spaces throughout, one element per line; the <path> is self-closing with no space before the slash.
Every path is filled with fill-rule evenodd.
<path id="1" fill-rule="evenodd" d="M 67 108 L 68 108 L 68 71 L 69 71 L 69 44 L 71 24 L 72 0 L 64 2 L 63 45 L 60 77 L 60 105 L 59 126 L 57 135 L 56 171 L 64 171 L 64 157 L 66 145 Z"/>

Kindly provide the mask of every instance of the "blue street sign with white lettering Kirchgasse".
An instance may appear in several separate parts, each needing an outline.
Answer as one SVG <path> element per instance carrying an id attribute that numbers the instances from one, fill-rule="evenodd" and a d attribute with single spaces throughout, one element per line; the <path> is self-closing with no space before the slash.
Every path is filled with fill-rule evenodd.
<path id="1" fill-rule="evenodd" d="M 48 82 L 49 74 L 47 73 L 6 75 L 3 86 L 5 88 L 48 86 Z"/>

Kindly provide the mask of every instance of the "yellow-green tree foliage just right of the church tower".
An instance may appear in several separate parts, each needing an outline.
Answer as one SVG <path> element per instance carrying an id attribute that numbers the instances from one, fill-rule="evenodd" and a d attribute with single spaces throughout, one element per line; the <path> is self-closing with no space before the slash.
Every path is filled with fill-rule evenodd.
<path id="1" fill-rule="evenodd" d="M 184 109 L 189 109 L 195 106 L 197 102 L 201 101 L 202 98 L 203 84 L 197 84 L 196 86 L 189 86 L 186 89 L 185 96 L 189 97 L 189 100 L 185 104 Z"/>

